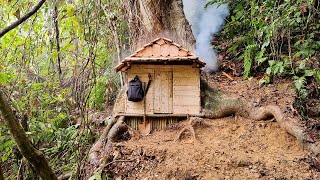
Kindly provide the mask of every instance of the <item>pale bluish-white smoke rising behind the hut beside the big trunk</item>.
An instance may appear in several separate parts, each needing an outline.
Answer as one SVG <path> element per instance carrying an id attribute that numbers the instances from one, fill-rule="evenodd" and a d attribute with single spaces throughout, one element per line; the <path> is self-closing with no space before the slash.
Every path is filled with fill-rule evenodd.
<path id="1" fill-rule="evenodd" d="M 207 9 L 210 0 L 182 0 L 183 10 L 196 38 L 195 54 L 207 63 L 209 71 L 217 70 L 217 54 L 211 46 L 214 34 L 224 25 L 224 18 L 229 14 L 228 5 L 213 4 Z"/>

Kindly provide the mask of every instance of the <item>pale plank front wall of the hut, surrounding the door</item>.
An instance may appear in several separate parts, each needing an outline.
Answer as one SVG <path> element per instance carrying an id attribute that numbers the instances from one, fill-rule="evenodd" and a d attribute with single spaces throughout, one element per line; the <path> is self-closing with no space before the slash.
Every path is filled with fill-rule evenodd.
<path id="1" fill-rule="evenodd" d="M 192 68 L 188 65 L 135 65 L 127 71 L 128 82 L 138 75 L 142 82 L 148 83 L 148 73 L 152 75 L 152 83 L 146 97 L 146 113 L 153 114 L 156 112 L 154 108 L 155 96 L 161 92 L 155 89 L 155 72 L 172 72 L 172 91 L 173 98 L 172 108 L 168 109 L 173 114 L 199 114 L 201 111 L 200 105 L 200 69 Z M 127 86 L 126 84 L 126 86 Z M 168 95 L 169 97 L 172 94 Z M 169 103 L 169 104 L 170 104 Z M 130 114 L 143 114 L 143 101 L 130 102 L 126 100 L 126 113 Z M 170 105 L 169 105 L 170 106 Z"/>

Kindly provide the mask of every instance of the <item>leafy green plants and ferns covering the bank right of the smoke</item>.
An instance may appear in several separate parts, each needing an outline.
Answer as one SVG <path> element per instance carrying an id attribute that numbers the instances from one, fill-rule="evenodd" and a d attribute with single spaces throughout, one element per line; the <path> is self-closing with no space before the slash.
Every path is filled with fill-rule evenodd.
<path id="1" fill-rule="evenodd" d="M 305 86 L 316 81 L 320 89 L 320 6 L 318 1 L 211 0 L 229 5 L 230 15 L 216 46 L 233 61 L 243 63 L 243 76 L 264 73 L 261 84 L 276 76 L 293 78 L 300 100 Z M 225 46 L 225 43 L 224 43 Z"/>

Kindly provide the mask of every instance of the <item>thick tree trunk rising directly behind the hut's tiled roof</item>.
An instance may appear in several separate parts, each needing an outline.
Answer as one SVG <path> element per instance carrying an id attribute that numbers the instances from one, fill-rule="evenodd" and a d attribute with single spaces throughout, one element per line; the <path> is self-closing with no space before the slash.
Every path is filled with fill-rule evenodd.
<path id="1" fill-rule="evenodd" d="M 183 12 L 182 0 L 128 0 L 127 10 L 131 50 L 159 36 L 165 36 L 193 50 L 195 38 Z"/>

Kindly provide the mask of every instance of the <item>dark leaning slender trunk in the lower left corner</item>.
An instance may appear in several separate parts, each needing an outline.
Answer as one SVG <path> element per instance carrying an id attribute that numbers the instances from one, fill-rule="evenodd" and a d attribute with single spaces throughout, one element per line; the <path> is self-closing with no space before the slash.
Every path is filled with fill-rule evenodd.
<path id="1" fill-rule="evenodd" d="M 10 130 L 11 135 L 19 147 L 21 154 L 32 164 L 38 175 L 44 180 L 56 180 L 57 177 L 50 168 L 45 156 L 41 151 L 34 148 L 28 140 L 28 137 L 26 136 L 22 126 L 19 124 L 16 116 L 13 114 L 13 111 L 1 89 L 0 111 Z"/>

